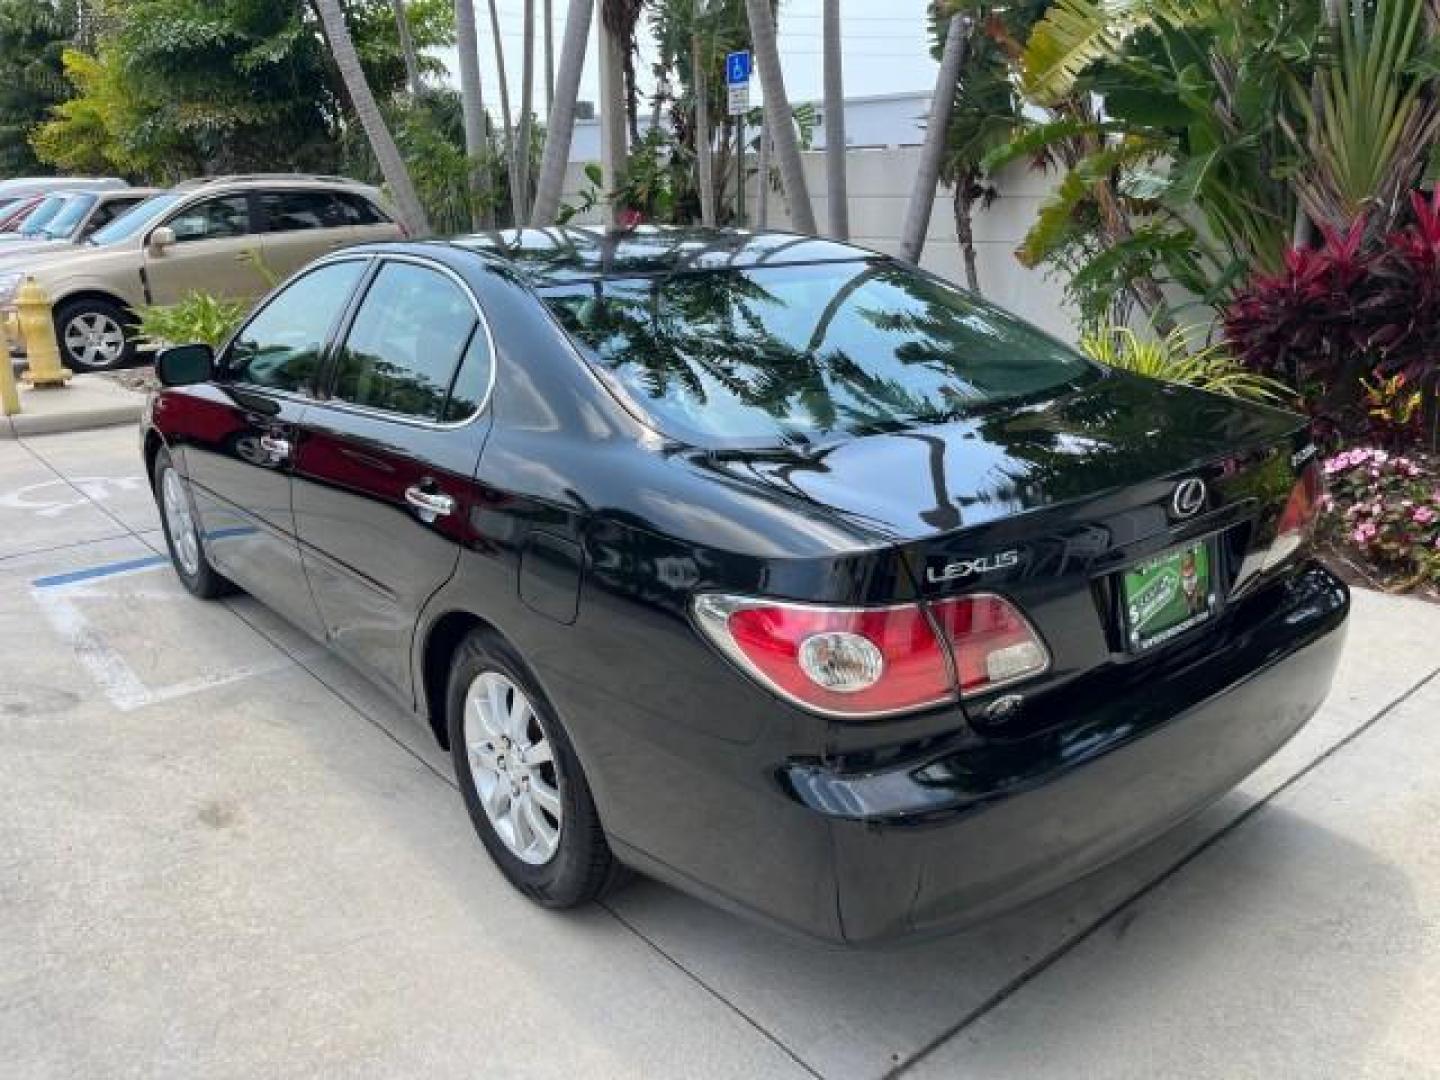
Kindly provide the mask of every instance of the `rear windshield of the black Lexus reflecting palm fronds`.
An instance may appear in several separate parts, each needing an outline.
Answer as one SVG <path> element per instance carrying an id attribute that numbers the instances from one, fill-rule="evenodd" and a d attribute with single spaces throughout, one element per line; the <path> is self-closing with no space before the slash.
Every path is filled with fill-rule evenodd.
<path id="1" fill-rule="evenodd" d="M 1041 331 L 886 259 L 593 281 L 544 300 L 657 428 L 700 445 L 939 423 L 1094 372 Z"/>

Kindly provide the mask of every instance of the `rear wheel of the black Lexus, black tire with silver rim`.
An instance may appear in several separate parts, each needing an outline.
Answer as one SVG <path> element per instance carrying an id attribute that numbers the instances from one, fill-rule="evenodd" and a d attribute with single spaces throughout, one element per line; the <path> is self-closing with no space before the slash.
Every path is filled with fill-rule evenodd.
<path id="1" fill-rule="evenodd" d="M 619 864 L 559 716 L 514 651 L 472 631 L 451 667 L 451 756 L 469 819 L 500 871 L 544 907 L 608 891 Z"/>

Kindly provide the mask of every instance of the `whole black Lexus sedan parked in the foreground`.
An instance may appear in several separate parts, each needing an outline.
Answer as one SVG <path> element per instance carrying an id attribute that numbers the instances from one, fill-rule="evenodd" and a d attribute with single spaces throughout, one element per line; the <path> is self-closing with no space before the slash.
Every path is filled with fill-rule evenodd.
<path id="1" fill-rule="evenodd" d="M 324 258 L 144 420 L 176 572 L 449 749 L 543 904 L 621 867 L 841 942 L 1194 814 L 1323 701 L 1305 422 L 785 233 Z"/>

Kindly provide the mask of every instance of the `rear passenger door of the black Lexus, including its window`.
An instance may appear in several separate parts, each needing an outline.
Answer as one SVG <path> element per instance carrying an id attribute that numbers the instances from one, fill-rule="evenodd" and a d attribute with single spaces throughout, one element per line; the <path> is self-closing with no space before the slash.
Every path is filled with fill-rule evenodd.
<path id="1" fill-rule="evenodd" d="M 379 264 L 305 416 L 295 528 L 331 644 L 402 696 L 426 600 L 471 540 L 490 338 L 456 279 Z"/>

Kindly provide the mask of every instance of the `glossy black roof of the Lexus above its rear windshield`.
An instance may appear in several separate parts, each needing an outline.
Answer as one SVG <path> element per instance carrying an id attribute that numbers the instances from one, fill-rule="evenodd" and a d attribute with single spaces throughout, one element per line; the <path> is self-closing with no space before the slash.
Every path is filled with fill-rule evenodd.
<path id="1" fill-rule="evenodd" d="M 609 232 L 575 226 L 504 229 L 458 236 L 449 245 L 498 256 L 537 288 L 603 278 L 877 258 L 876 252 L 819 236 L 681 226 Z"/>

